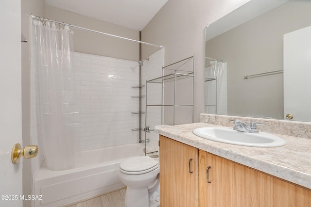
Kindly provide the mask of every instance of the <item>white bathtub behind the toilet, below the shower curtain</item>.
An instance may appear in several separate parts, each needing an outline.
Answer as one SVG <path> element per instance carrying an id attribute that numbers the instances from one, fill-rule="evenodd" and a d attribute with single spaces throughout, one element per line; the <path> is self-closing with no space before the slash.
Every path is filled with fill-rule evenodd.
<path id="1" fill-rule="evenodd" d="M 144 146 L 133 143 L 82 151 L 70 170 L 51 171 L 43 163 L 35 178 L 35 195 L 42 199 L 35 200 L 35 207 L 63 206 L 124 187 L 119 165 L 126 158 L 144 155 Z"/>

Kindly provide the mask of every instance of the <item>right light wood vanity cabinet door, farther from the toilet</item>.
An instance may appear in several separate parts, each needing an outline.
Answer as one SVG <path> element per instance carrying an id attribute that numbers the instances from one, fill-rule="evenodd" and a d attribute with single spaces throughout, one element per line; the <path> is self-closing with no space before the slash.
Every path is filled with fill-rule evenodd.
<path id="1" fill-rule="evenodd" d="M 311 207 L 310 189 L 203 150 L 199 189 L 200 207 Z"/>

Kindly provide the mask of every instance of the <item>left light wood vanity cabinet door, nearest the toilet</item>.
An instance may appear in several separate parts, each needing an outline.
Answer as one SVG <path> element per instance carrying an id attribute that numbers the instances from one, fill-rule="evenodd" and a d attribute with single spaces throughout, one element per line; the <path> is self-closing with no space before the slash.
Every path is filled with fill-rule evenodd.
<path id="1" fill-rule="evenodd" d="M 198 149 L 160 135 L 161 207 L 198 207 Z"/>

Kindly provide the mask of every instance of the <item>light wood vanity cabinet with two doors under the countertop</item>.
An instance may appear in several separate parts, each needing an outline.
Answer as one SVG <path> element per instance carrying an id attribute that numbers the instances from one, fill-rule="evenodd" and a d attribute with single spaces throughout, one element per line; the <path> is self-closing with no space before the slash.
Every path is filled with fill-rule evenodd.
<path id="1" fill-rule="evenodd" d="M 159 151 L 161 207 L 311 207 L 310 189 L 161 135 Z"/>

